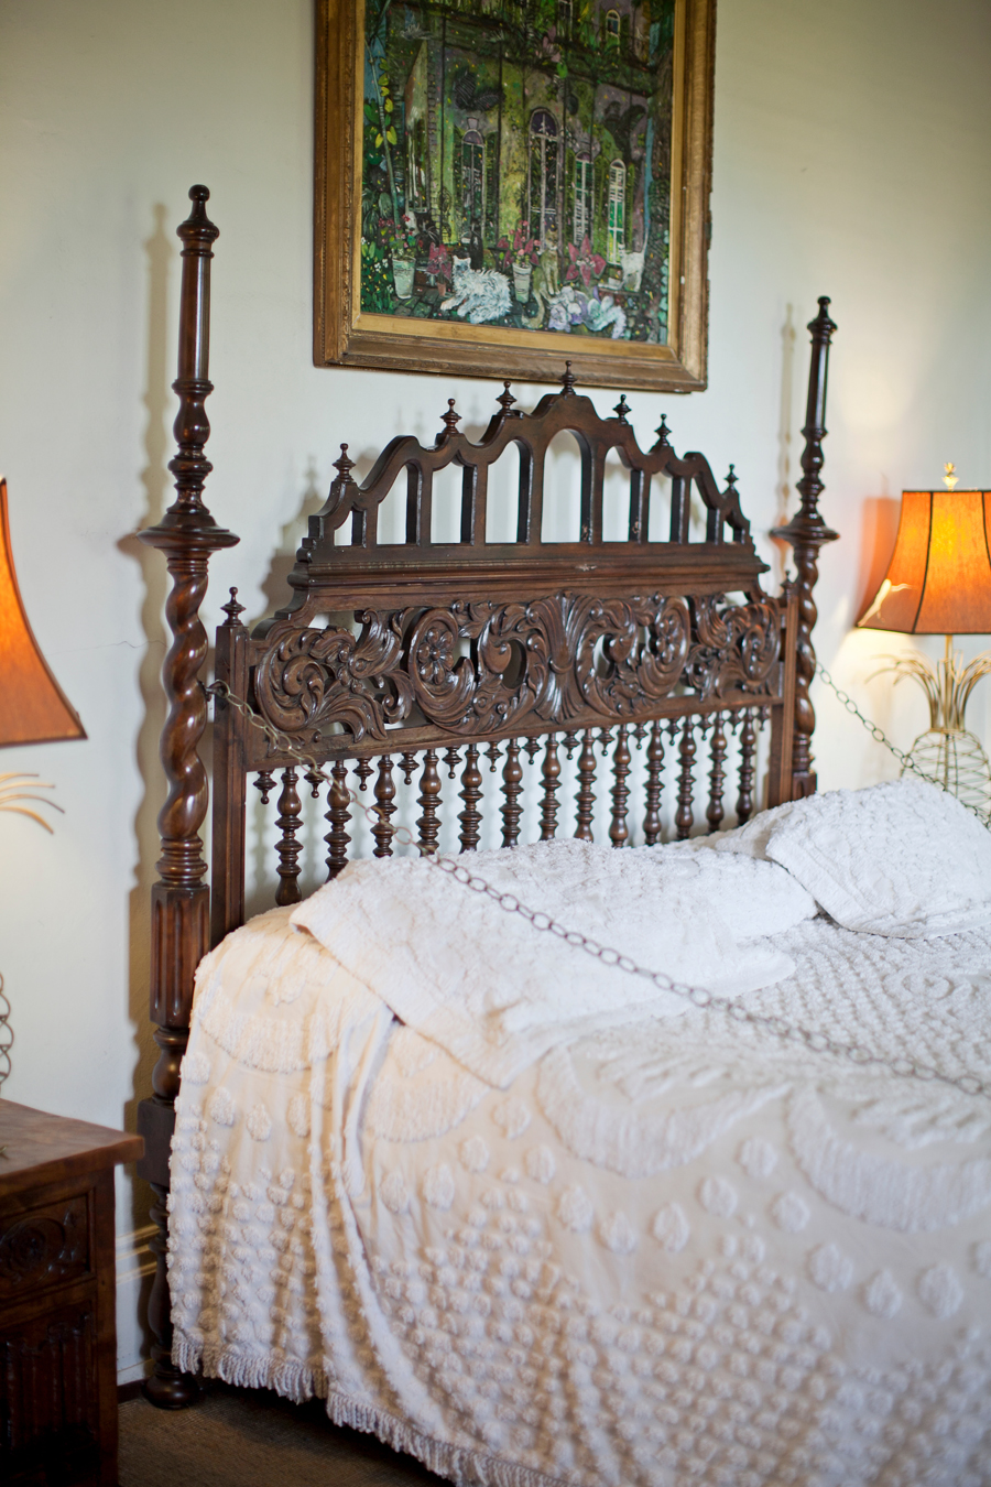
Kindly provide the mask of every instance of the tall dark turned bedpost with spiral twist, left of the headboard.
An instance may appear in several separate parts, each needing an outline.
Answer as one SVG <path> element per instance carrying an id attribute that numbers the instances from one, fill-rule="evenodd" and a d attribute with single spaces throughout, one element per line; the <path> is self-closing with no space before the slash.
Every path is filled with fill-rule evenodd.
<path id="1" fill-rule="evenodd" d="M 178 394 L 174 424 L 178 451 L 169 462 L 175 476 L 175 501 L 157 526 L 141 532 L 141 541 L 165 553 L 172 590 L 166 619 L 172 645 L 165 657 L 162 684 L 169 702 L 162 729 L 160 757 L 168 782 L 168 797 L 159 813 L 162 857 L 159 880 L 152 889 L 152 1022 L 160 1048 L 152 1075 L 155 1094 L 138 1106 L 138 1130 L 146 1155 L 138 1172 L 152 1184 L 152 1219 L 157 1234 L 152 1249 L 157 1258 L 149 1301 L 149 1325 L 155 1371 L 146 1383 L 149 1399 L 178 1410 L 198 1398 L 198 1386 L 172 1367 L 172 1323 L 166 1276 L 168 1233 L 168 1158 L 175 1121 L 175 1096 L 180 1063 L 189 1036 L 193 999 L 193 972 L 209 949 L 209 889 L 202 882 L 207 864 L 199 828 L 207 815 L 209 787 L 199 757 L 199 741 L 207 726 L 207 699 L 199 671 L 207 659 L 207 630 L 199 607 L 207 593 L 209 558 L 238 538 L 217 526 L 204 506 L 204 485 L 212 465 L 204 454 L 209 437 L 205 401 L 209 382 L 209 260 L 217 228 L 207 216 L 209 192 L 190 189 L 193 210 L 177 229 L 183 241 L 183 287 L 180 296 Z"/>

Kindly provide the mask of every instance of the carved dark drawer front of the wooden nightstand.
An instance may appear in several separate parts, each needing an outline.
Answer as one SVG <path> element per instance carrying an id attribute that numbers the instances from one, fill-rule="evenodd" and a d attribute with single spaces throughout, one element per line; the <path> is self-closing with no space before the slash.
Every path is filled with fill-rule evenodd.
<path id="1" fill-rule="evenodd" d="M 91 1271 L 89 1203 L 85 1193 L 0 1216 L 0 1301 Z"/>

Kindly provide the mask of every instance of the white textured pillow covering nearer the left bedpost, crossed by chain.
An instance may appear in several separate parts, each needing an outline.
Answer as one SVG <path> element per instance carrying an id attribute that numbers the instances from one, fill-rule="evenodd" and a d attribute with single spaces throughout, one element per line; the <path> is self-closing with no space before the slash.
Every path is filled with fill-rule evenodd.
<path id="1" fill-rule="evenodd" d="M 722 996 L 770 986 L 793 970 L 786 955 L 731 932 L 719 910 L 724 897 L 737 900 L 738 925 L 756 923 L 761 904 L 776 897 L 790 904 L 783 917 L 790 913 L 792 923 L 814 913 L 811 898 L 789 889 L 774 864 L 752 861 L 741 871 L 716 855 L 703 867 L 663 849 L 615 852 L 557 840 L 478 852 L 465 865 L 566 929 Z M 293 923 L 407 1026 L 502 1088 L 576 1033 L 691 1007 L 646 977 L 538 932 L 419 858 L 348 864 L 293 913 Z"/>

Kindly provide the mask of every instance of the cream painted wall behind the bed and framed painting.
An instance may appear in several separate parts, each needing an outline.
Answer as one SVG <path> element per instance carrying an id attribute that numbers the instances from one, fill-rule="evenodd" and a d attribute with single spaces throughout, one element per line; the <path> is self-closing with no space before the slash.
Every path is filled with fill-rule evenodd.
<path id="1" fill-rule="evenodd" d="M 921 703 L 868 686 L 888 642 L 850 622 L 902 486 L 936 483 L 948 458 L 991 482 L 990 70 L 987 0 L 721 0 L 710 388 L 630 396 L 642 439 L 664 409 L 678 448 L 719 473 L 735 461 L 777 564 L 764 534 L 793 509 L 804 324 L 832 294 L 823 510 L 842 541 L 823 556 L 817 645 L 903 744 Z M 311 0 L 0 3 L 0 464 L 28 613 L 89 733 L 3 757 L 65 807 L 55 837 L 0 824 L 3 1093 L 108 1124 L 147 1088 L 163 575 L 131 534 L 166 501 L 189 184 L 209 184 L 221 228 L 208 500 L 242 538 L 212 564 L 211 622 L 229 583 L 263 611 L 342 439 L 367 461 L 395 433 L 426 437 L 450 393 L 477 428 L 496 391 L 312 367 L 311 74 Z M 987 684 L 973 720 L 991 738 Z M 829 699 L 816 752 L 823 785 L 893 773 Z M 144 1222 L 122 1182 L 125 1377 Z"/>

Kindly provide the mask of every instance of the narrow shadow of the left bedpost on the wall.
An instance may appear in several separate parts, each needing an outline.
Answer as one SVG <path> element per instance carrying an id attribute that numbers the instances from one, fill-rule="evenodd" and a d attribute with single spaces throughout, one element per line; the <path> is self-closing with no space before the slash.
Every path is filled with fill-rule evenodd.
<path id="1" fill-rule="evenodd" d="M 144 507 L 138 528 L 153 526 L 162 519 L 168 504 L 171 480 L 166 464 L 169 452 L 168 275 L 175 247 L 166 235 L 165 220 L 166 208 L 163 205 L 155 207 L 155 230 L 144 242 L 149 275 L 147 366 L 143 399 L 147 413 L 144 433 L 147 462 L 141 471 Z M 134 1069 L 135 1093 L 125 1106 L 125 1126 L 128 1130 L 135 1130 L 138 1099 L 152 1088 L 152 1069 L 157 1057 L 149 1022 L 150 892 L 157 877 L 155 867 L 159 855 L 157 812 L 163 801 L 159 736 L 165 721 L 165 693 L 162 691 L 160 672 L 168 644 L 165 622 L 162 619 L 168 572 L 160 553 L 146 547 L 144 543 L 138 541 L 137 535 L 128 534 L 117 546 L 128 558 L 134 558 L 141 568 L 144 581 L 141 628 L 147 638 L 147 647 L 138 669 L 138 687 L 141 688 L 141 699 L 144 702 L 144 721 L 141 723 L 135 746 L 144 793 L 134 818 L 137 846 L 135 886 L 131 889 L 128 913 L 128 1010 L 134 1025 L 137 1057 Z M 152 1191 L 137 1178 L 131 1191 L 134 1201 L 134 1237 L 140 1240 L 144 1230 L 150 1231 L 149 1207 Z M 150 1276 L 146 1279 L 146 1286 L 149 1280 Z M 144 1320 L 144 1304 L 140 1309 L 140 1315 Z M 150 1341 L 150 1337 L 146 1341 Z"/>

